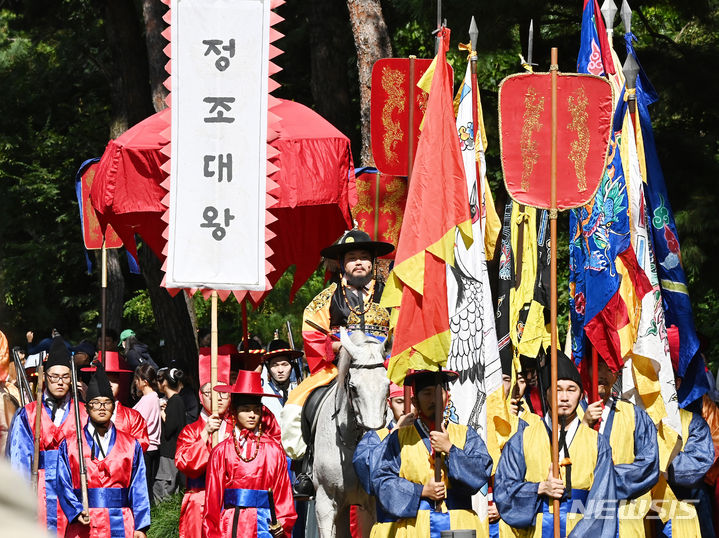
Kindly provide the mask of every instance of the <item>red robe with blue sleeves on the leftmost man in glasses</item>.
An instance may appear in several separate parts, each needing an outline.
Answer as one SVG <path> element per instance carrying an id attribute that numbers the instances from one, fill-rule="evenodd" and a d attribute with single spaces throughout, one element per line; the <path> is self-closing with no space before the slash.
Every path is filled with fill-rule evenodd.
<path id="1" fill-rule="evenodd" d="M 44 398 L 44 395 L 43 395 Z M 63 536 L 67 526 L 67 518 L 57 500 L 55 477 L 57 471 L 58 448 L 64 439 L 75 439 L 75 416 L 72 400 L 60 426 L 50 419 L 50 412 L 43 405 L 40 435 L 40 465 L 38 469 L 38 519 L 43 527 L 50 531 L 57 530 Z M 7 454 L 13 469 L 30 479 L 32 459 L 34 455 L 36 402 L 30 402 L 22 408 L 10 426 L 7 443 Z M 85 406 L 80 406 L 80 417 L 84 424 L 87 421 Z"/>

